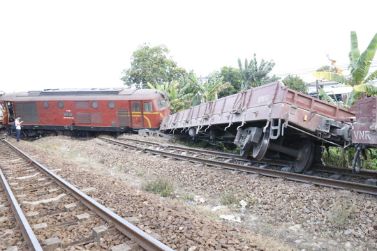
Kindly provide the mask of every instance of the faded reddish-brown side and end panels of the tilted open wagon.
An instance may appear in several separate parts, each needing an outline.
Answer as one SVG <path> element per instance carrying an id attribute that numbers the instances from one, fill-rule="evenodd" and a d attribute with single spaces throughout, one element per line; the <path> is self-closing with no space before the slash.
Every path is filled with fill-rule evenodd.
<path id="1" fill-rule="evenodd" d="M 315 132 L 323 118 L 334 120 L 353 116 L 355 114 L 347 109 L 293 91 L 277 81 L 167 116 L 160 128 L 182 130 L 282 119 Z"/>

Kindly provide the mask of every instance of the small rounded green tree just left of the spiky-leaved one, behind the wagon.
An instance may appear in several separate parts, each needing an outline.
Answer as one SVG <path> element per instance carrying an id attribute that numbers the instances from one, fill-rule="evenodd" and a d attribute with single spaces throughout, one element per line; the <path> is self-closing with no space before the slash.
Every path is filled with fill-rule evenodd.
<path id="1" fill-rule="evenodd" d="M 239 69 L 232 68 L 231 66 L 224 66 L 220 70 L 219 77 L 224 77 L 223 82 L 230 83 L 230 86 L 219 92 L 219 98 L 223 98 L 241 91 L 242 77 L 239 74 Z"/>

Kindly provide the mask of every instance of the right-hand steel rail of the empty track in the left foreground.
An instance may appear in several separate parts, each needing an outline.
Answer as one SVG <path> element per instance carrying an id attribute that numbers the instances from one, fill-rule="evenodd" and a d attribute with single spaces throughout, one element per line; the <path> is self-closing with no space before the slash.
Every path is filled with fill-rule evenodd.
<path id="1" fill-rule="evenodd" d="M 40 171 L 43 172 L 43 174 L 50 177 L 54 182 L 60 185 L 61 188 L 64 188 L 64 190 L 71 192 L 71 195 L 73 195 L 73 197 L 81 201 L 82 204 L 90 208 L 92 211 L 96 212 L 101 218 L 103 218 L 107 222 L 113 223 L 114 227 L 126 236 L 128 236 L 128 238 L 133 238 L 133 240 L 136 243 L 138 243 L 138 245 L 140 245 L 142 248 L 145 248 L 146 250 L 172 251 L 172 249 L 169 248 L 167 245 L 156 240 L 155 238 L 145 233 L 145 231 L 142 231 L 138 227 L 135 227 L 130 222 L 124 220 L 116 213 L 113 213 L 108 208 L 99 204 L 94 199 L 91 199 L 91 197 L 85 195 L 83 192 L 75 188 L 73 185 L 64 181 L 64 179 L 58 176 L 57 174 L 50 172 L 49 169 L 47 169 L 39 162 L 31 158 L 29 155 L 27 155 L 27 153 L 24 153 L 24 151 L 18 149 L 16 146 L 13 146 L 8 141 L 4 141 L 7 142 L 13 149 L 15 149 L 15 151 L 23 155 L 24 158 L 27 158 L 32 164 L 38 167 L 38 169 L 40 169 Z"/>

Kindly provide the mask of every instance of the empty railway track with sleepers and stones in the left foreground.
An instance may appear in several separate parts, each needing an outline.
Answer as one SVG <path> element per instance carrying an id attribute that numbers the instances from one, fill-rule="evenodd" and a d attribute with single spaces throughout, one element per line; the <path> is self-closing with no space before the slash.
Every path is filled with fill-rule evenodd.
<path id="1" fill-rule="evenodd" d="M 0 218 L 9 227 L 0 243 L 10 245 L 1 249 L 172 250 L 84 193 L 94 188 L 78 190 L 55 172 L 0 140 L 0 210 L 12 209 Z"/>

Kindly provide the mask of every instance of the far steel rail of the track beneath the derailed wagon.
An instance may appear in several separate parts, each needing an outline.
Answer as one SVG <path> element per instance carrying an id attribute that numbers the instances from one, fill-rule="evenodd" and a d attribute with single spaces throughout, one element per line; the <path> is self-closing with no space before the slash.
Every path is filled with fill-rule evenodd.
<path id="1" fill-rule="evenodd" d="M 106 139 L 106 138 L 103 138 L 103 137 L 98 137 L 98 138 Z M 139 143 L 143 143 L 143 144 L 153 144 L 153 145 L 156 145 L 156 146 L 166 146 L 166 147 L 169 147 L 169 148 L 180 149 L 182 151 L 187 151 L 187 152 L 191 152 L 191 153 L 204 153 L 204 154 L 208 154 L 208 155 L 219 155 L 219 156 L 224 157 L 224 158 L 233 158 L 234 160 L 245 161 L 245 162 L 252 161 L 252 162 L 269 163 L 271 165 L 281 165 L 281 166 L 291 166 L 292 165 L 292 162 L 290 162 L 288 160 L 271 160 L 271 159 L 267 159 L 267 158 L 262 159 L 262 160 L 256 160 L 252 157 L 242 158 L 238 154 L 235 154 L 235 153 L 224 153 L 224 152 L 217 152 L 217 151 L 209 151 L 209 150 L 205 150 L 205 149 L 193 149 L 193 148 L 190 148 L 190 147 L 187 147 L 187 146 L 176 146 L 176 145 L 171 145 L 171 144 L 161 144 L 161 143 L 156 143 L 156 142 L 147 142 L 147 141 L 141 140 L 141 139 L 124 139 L 124 140 L 139 142 Z M 359 173 L 354 174 L 352 172 L 352 169 L 350 169 L 350 168 L 314 164 L 313 170 L 320 171 L 320 172 L 341 173 L 341 174 L 359 176 L 359 177 L 364 177 L 364 178 L 377 178 L 377 172 L 366 170 L 366 169 L 361 169 Z"/>

